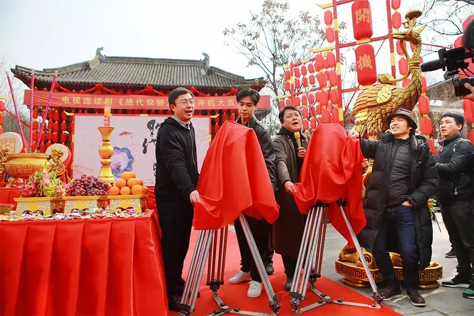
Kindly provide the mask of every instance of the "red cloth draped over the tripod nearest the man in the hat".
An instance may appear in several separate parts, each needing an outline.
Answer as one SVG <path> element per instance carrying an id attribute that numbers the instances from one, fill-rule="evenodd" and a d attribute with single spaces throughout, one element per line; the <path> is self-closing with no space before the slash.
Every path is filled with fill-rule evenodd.
<path id="1" fill-rule="evenodd" d="M 334 228 L 350 243 L 352 239 L 336 203 L 347 199 L 345 207 L 354 232 L 366 225 L 362 209 L 362 152 L 360 140 L 346 136 L 336 123 L 320 124 L 311 134 L 301 168 L 300 183 L 293 193 L 298 209 L 308 214 L 317 201 L 331 203 L 328 217 Z"/>

